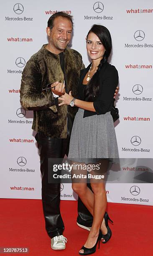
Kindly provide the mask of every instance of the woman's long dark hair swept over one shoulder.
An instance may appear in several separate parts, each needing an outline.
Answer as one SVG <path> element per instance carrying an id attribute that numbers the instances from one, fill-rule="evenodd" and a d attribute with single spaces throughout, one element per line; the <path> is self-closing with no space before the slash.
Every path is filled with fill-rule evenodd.
<path id="1" fill-rule="evenodd" d="M 93 75 L 92 79 L 90 79 L 89 83 L 87 86 L 84 88 L 84 95 L 87 101 L 93 101 L 94 96 L 98 95 L 99 92 L 99 72 L 102 68 L 102 65 L 107 61 L 110 52 L 112 50 L 112 38 L 110 35 L 110 31 L 101 25 L 93 25 L 92 28 L 89 30 L 87 34 L 87 40 L 88 40 L 88 35 L 90 32 L 93 32 L 96 34 L 96 36 L 100 39 L 101 43 L 105 47 L 105 54 L 103 58 L 101 59 L 97 72 Z"/>

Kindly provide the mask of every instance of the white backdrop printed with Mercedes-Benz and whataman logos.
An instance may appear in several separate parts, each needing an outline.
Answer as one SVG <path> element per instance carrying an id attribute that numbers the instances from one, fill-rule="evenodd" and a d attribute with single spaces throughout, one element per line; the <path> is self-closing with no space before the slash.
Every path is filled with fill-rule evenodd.
<path id="1" fill-rule="evenodd" d="M 152 0 L 1 1 L 0 197 L 41 199 L 40 160 L 31 130 L 33 112 L 21 108 L 20 79 L 26 61 L 47 43 L 47 21 L 57 11 L 74 16 L 68 47 L 82 54 L 86 66 L 85 37 L 90 27 L 101 24 L 110 30 L 111 63 L 120 77 L 116 101 L 120 120 L 115 131 L 120 158 L 125 160 L 119 172 L 108 172 L 107 199 L 153 205 Z M 77 200 L 71 184 L 61 184 L 61 200 Z"/>

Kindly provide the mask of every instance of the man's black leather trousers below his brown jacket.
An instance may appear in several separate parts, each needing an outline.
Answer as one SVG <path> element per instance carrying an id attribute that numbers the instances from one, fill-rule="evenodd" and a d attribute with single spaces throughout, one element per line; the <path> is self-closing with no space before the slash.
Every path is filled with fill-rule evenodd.
<path id="1" fill-rule="evenodd" d="M 42 174 L 42 203 L 45 217 L 46 231 L 50 238 L 63 234 L 64 223 L 60 213 L 60 184 L 48 182 L 48 158 L 64 158 L 69 152 L 69 138 L 49 138 L 41 133 L 36 134 L 36 141 L 40 152 Z M 81 225 L 91 226 L 92 215 L 78 200 L 77 222 Z"/>

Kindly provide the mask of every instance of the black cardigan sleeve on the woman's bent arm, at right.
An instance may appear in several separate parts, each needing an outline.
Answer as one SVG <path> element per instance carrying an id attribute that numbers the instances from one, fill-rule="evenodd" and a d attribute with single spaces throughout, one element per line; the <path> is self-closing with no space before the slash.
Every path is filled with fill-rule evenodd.
<path id="1" fill-rule="evenodd" d="M 109 66 L 105 71 L 102 84 L 99 85 L 102 86 L 100 100 L 95 100 L 93 103 L 97 115 L 105 114 L 110 110 L 117 84 L 117 69 L 114 66 Z"/>

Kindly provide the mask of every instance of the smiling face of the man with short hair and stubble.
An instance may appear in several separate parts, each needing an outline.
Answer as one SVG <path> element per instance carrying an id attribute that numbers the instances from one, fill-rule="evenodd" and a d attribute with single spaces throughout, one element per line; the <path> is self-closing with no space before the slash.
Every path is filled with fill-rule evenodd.
<path id="1" fill-rule="evenodd" d="M 72 24 L 67 18 L 57 17 L 54 20 L 54 27 L 46 28 L 49 48 L 51 52 L 59 54 L 66 49 L 71 40 Z"/>

